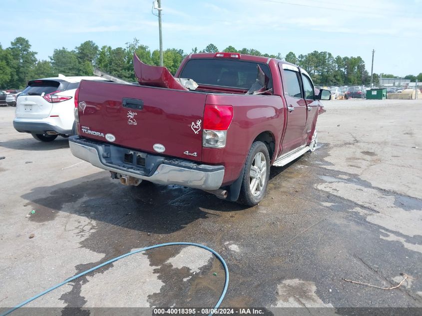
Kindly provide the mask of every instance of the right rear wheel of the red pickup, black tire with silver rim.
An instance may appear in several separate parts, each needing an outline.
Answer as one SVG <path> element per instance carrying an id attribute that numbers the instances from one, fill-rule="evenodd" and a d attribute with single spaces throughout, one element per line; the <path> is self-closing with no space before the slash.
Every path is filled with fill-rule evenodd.
<path id="1" fill-rule="evenodd" d="M 265 162 L 263 159 L 265 159 Z M 260 167 L 256 166 L 259 161 L 262 163 Z M 255 170 L 257 167 L 259 168 L 260 173 L 258 174 L 258 177 L 254 177 L 254 171 L 252 170 Z M 242 186 L 237 202 L 249 206 L 257 205 L 264 199 L 265 194 L 267 193 L 269 178 L 270 155 L 268 154 L 268 148 L 263 142 L 256 141 L 252 144 L 251 149 L 249 149 L 248 157 L 246 158 Z M 252 192 L 252 190 L 254 190 L 254 192 Z"/>

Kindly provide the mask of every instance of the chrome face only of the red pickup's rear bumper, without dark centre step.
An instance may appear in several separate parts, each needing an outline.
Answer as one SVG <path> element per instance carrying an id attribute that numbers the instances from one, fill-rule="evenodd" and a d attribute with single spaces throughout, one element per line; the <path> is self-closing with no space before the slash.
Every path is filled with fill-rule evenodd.
<path id="1" fill-rule="evenodd" d="M 201 190 L 217 190 L 223 183 L 223 166 L 201 165 L 183 160 L 183 166 L 162 163 L 158 165 L 152 175 L 146 176 L 134 172 L 133 168 L 128 169 L 121 166 L 111 166 L 103 162 L 100 151 L 104 145 L 99 142 L 98 145 L 94 142 L 81 144 L 81 139 L 78 136 L 72 136 L 69 138 L 69 146 L 73 156 L 85 160 L 95 167 L 153 183 L 165 185 L 176 184 Z M 113 145 L 107 144 L 107 146 Z M 186 167 L 186 164 L 190 164 L 191 166 Z"/>

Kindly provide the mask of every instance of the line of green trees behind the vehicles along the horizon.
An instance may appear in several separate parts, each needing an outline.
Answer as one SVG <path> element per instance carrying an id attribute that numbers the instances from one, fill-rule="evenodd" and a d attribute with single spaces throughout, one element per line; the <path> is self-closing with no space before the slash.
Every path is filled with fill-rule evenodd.
<path id="1" fill-rule="evenodd" d="M 198 50 L 197 47 L 192 48 L 190 53 L 218 51 L 220 51 L 218 47 L 211 43 L 202 50 Z M 304 68 L 317 85 L 369 85 L 371 81 L 365 62 L 359 56 L 333 56 L 330 52 L 315 50 L 305 55 L 296 55 L 291 51 L 283 57 L 280 53 L 267 54 L 253 48 L 238 50 L 233 46 L 228 46 L 222 51 L 284 59 Z M 88 40 L 72 50 L 65 47 L 54 49 L 49 60 L 38 60 L 37 53 L 31 50 L 29 41 L 24 37 L 16 37 L 7 48 L 2 48 L 0 43 L 0 88 L 23 88 L 28 80 L 55 77 L 59 73 L 66 76 L 89 76 L 95 67 L 121 79 L 135 81 L 133 53 L 146 64 L 159 65 L 159 51 L 157 49 L 151 51 L 136 38 L 127 42 L 124 47 L 116 48 L 107 45 L 98 47 L 93 41 Z M 164 66 L 174 74 L 187 54 L 182 49 L 164 50 Z M 383 77 L 395 76 L 383 74 Z M 408 75 L 405 78 L 422 81 L 422 73 Z M 379 75 L 375 73 L 374 84 L 377 85 L 378 81 Z"/>

